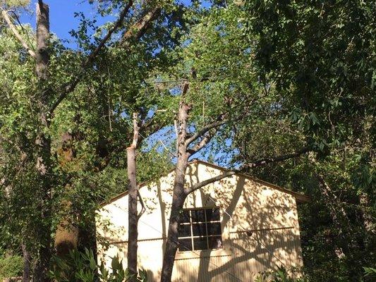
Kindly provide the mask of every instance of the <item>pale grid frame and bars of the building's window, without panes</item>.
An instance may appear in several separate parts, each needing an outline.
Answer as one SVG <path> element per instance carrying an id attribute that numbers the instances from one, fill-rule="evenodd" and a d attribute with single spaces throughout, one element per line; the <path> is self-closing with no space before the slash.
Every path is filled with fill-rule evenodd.
<path id="1" fill-rule="evenodd" d="M 218 220 L 212 220 L 212 221 L 208 221 L 207 220 L 207 210 L 218 210 L 218 214 L 219 214 L 219 219 Z M 186 252 L 211 252 L 211 251 L 219 251 L 219 250 L 224 250 L 224 238 L 223 238 L 223 229 L 222 229 L 222 217 L 221 217 L 221 209 L 219 207 L 193 207 L 193 208 L 187 208 L 187 209 L 183 209 L 182 210 L 183 212 L 189 212 L 189 222 L 180 222 L 179 223 L 179 228 L 181 225 L 186 225 L 186 226 L 190 226 L 190 235 L 189 236 L 180 236 L 179 233 L 178 233 L 178 242 L 181 240 L 181 239 L 190 239 L 190 244 L 191 244 L 191 250 L 179 250 L 180 247 L 179 247 L 179 244 L 178 244 L 178 252 L 179 253 L 186 253 Z M 205 221 L 193 221 L 193 216 L 192 216 L 192 212 L 193 211 L 202 211 L 205 215 Z M 219 224 L 219 228 L 220 228 L 220 232 L 219 234 L 210 234 L 209 235 L 209 232 L 208 232 L 208 229 L 209 229 L 209 224 L 210 223 L 217 223 Z M 193 234 L 193 225 L 194 224 L 205 224 L 205 235 L 194 235 Z M 195 248 L 195 241 L 194 239 L 197 239 L 197 238 L 205 238 L 206 239 L 206 246 L 207 248 L 205 249 L 196 249 Z M 210 248 L 210 238 L 220 238 L 221 240 L 221 247 L 216 247 L 216 248 Z"/>

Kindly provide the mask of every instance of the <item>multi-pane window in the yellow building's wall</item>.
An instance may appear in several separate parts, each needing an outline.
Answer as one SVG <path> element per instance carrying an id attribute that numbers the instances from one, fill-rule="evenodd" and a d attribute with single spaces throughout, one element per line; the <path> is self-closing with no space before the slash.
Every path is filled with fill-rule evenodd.
<path id="1" fill-rule="evenodd" d="M 179 251 L 222 248 L 218 208 L 184 209 L 181 216 L 178 228 Z"/>

